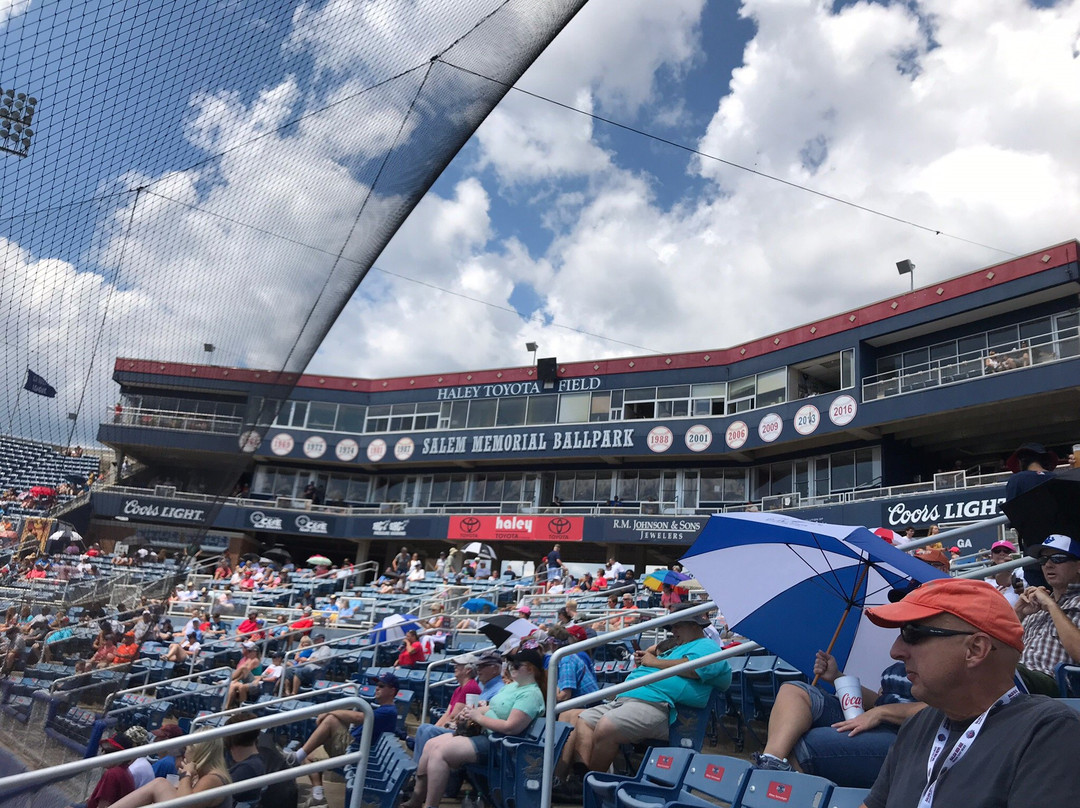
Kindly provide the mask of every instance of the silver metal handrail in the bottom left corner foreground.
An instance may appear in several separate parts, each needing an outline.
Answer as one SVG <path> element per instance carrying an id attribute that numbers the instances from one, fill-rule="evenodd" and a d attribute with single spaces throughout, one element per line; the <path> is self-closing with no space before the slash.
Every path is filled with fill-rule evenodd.
<path id="1" fill-rule="evenodd" d="M 213 789 L 207 789 L 204 792 L 200 792 L 199 794 L 190 794 L 188 796 L 177 797 L 176 799 L 167 799 L 159 803 L 158 805 L 166 806 L 167 808 L 185 808 L 186 806 L 205 803 L 208 795 L 224 796 L 227 794 L 239 794 L 241 792 L 252 791 L 256 787 L 261 789 L 266 785 L 285 782 L 286 780 L 295 780 L 297 777 L 310 775 L 315 771 L 325 771 L 327 769 L 337 768 L 341 765 L 355 763 L 356 781 L 353 784 L 352 803 L 350 804 L 350 808 L 361 808 L 364 783 L 367 780 L 367 762 L 370 757 L 369 753 L 375 725 L 375 711 L 366 699 L 362 699 L 359 696 L 350 696 L 335 701 L 324 702 L 322 704 L 311 704 L 309 706 L 291 710 L 287 713 L 264 715 L 227 727 L 204 729 L 199 732 L 197 740 L 210 741 L 215 738 L 227 738 L 231 735 L 248 732 L 255 729 L 265 729 L 266 727 L 275 727 L 279 724 L 292 724 L 293 722 L 301 718 L 321 715 L 322 713 L 330 712 L 333 710 L 343 710 L 350 708 L 359 708 L 364 714 L 364 723 L 361 729 L 360 751 L 339 755 L 338 757 L 330 757 L 326 760 L 319 760 L 318 763 L 285 768 L 271 775 L 261 775 L 259 777 L 241 780 L 228 785 L 215 786 Z M 175 751 L 177 746 L 190 744 L 192 742 L 190 736 L 187 738 L 186 742 L 178 743 L 178 740 L 179 739 L 174 738 L 166 741 L 156 741 L 153 743 L 147 743 L 130 750 L 111 752 L 107 755 L 87 757 L 82 760 L 73 760 L 71 763 L 60 764 L 59 766 L 52 766 L 46 769 L 25 771 L 19 775 L 0 778 L 0 794 L 12 794 L 28 787 L 48 785 L 49 783 L 57 780 L 68 780 L 76 775 L 83 773 L 84 771 L 117 766 L 148 754 Z"/>

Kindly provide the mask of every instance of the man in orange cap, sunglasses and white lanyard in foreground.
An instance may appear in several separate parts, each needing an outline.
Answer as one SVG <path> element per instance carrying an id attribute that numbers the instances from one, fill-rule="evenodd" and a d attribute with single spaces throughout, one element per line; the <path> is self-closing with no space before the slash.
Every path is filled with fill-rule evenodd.
<path id="1" fill-rule="evenodd" d="M 1080 714 L 1013 684 L 1024 630 L 983 581 L 942 579 L 866 609 L 900 629 L 892 657 L 930 709 L 900 730 L 867 808 L 1068 805 L 1080 793 Z"/>

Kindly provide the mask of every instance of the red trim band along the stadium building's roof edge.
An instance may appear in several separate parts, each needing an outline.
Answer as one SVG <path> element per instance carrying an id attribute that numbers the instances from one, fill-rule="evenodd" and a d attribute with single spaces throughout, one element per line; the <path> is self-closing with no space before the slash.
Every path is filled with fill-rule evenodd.
<path id="1" fill-rule="evenodd" d="M 772 351 L 814 339 L 841 334 L 870 323 L 878 323 L 892 317 L 933 306 L 943 300 L 953 300 L 973 292 L 993 288 L 1020 278 L 1038 274 L 1048 269 L 1061 267 L 1077 260 L 1080 244 L 1076 240 L 1040 250 L 1030 255 L 984 267 L 968 274 L 942 283 L 918 288 L 915 292 L 879 300 L 861 309 L 852 309 L 814 323 L 799 325 L 778 334 L 770 334 L 733 348 L 692 351 L 687 353 L 650 354 L 647 356 L 624 356 L 597 360 L 595 362 L 569 362 L 559 364 L 558 374 L 568 378 L 579 376 L 605 376 L 616 373 L 646 373 L 674 368 L 708 367 L 729 365 L 740 360 L 761 356 Z M 191 379 L 219 379 L 241 382 L 284 381 L 272 371 L 249 371 L 239 367 L 213 365 L 189 365 L 175 362 L 153 362 L 150 360 L 117 359 L 116 371 L 145 373 L 162 376 L 181 376 Z M 536 378 L 532 367 L 504 367 L 490 371 L 447 373 L 429 376 L 400 376 L 388 379 L 360 379 L 343 376 L 302 375 L 298 387 L 322 390 L 346 390 L 350 392 L 390 392 L 437 387 L 461 387 L 464 385 L 494 385 L 499 382 L 530 381 Z"/>

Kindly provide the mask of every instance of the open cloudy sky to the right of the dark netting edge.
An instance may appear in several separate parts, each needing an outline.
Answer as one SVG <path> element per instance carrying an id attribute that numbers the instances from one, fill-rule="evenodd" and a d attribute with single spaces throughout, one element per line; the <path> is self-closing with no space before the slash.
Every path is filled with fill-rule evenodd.
<path id="1" fill-rule="evenodd" d="M 311 367 L 723 347 L 1071 239 L 1078 53 L 1068 0 L 591 0 L 517 86 L 685 148 L 511 93 Z"/>

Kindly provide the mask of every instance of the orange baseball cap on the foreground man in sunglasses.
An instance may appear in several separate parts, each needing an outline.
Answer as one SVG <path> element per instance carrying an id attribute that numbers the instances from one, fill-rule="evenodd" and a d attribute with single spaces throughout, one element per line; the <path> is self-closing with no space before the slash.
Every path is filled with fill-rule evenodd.
<path id="1" fill-rule="evenodd" d="M 940 578 L 928 581 L 900 603 L 872 606 L 866 617 L 875 625 L 899 629 L 934 615 L 954 615 L 995 639 L 1024 650 L 1024 629 L 1009 602 L 985 581 Z"/>

